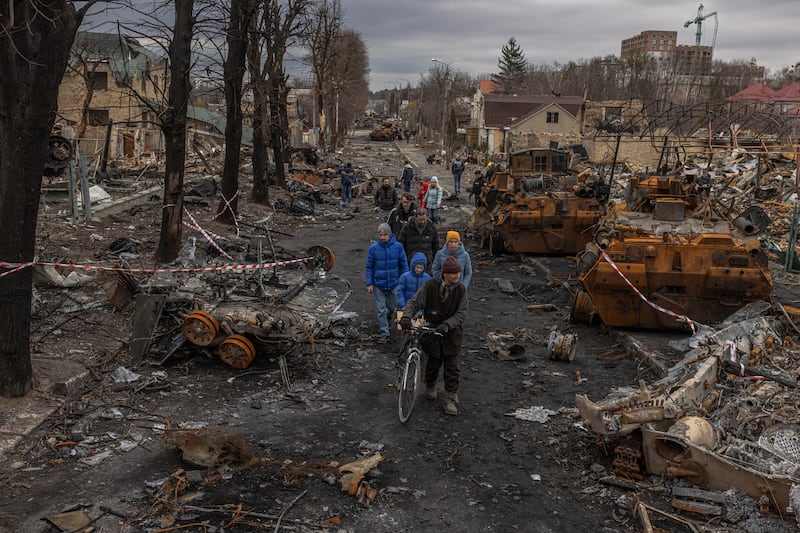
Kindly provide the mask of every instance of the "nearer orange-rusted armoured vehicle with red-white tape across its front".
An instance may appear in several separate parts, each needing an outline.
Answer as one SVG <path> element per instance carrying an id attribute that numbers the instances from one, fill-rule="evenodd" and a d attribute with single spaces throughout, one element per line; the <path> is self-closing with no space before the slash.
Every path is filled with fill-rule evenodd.
<path id="1" fill-rule="evenodd" d="M 767 299 L 772 277 L 754 235 L 769 217 L 750 207 L 731 224 L 703 200 L 681 176 L 631 178 L 625 202 L 609 209 L 578 254 L 583 290 L 573 300 L 572 319 L 693 328 Z"/>

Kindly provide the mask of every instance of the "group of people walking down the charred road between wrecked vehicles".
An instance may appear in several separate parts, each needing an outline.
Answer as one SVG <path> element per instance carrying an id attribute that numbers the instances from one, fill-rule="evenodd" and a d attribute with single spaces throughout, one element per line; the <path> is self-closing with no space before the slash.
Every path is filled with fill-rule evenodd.
<path id="1" fill-rule="evenodd" d="M 345 200 L 344 192 L 350 163 L 343 168 L 339 173 L 344 207 L 352 201 L 352 196 Z M 373 297 L 379 342 L 390 342 L 391 332 L 398 325 L 408 329 L 411 320 L 419 316 L 435 328 L 437 335 L 420 338 L 427 354 L 425 395 L 431 400 L 440 397 L 436 383 L 439 369 L 443 368 L 444 410 L 456 415 L 458 356 L 464 337 L 472 263 L 457 231 L 447 231 L 444 243 L 440 242 L 437 224 L 443 194 L 438 178 L 432 176 L 423 182 L 416 198 L 411 193 L 413 168 L 408 161 L 400 180 L 403 192 L 399 196 L 389 178 L 383 178 L 375 190 L 379 225 L 377 238 L 367 250 L 364 282 Z"/>

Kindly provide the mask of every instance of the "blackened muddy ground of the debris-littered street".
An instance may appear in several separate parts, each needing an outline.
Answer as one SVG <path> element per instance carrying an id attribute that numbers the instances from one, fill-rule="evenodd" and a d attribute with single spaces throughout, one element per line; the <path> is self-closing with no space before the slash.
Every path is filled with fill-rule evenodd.
<path id="1" fill-rule="evenodd" d="M 394 177 L 407 157 L 418 175 L 438 174 L 450 186 L 445 168 L 425 162 L 434 148 L 370 143 L 366 133 L 350 140 L 343 160 Z M 246 173 L 242 179 L 246 190 Z M 342 280 L 351 284 L 342 309 L 356 313 L 340 334 L 288 353 L 291 390 L 281 378 L 279 346 L 259 348 L 246 371 L 197 350 L 176 353 L 163 365 L 153 357 L 132 357 L 127 344 L 133 308 L 116 311 L 103 292 L 113 274 L 96 274 L 70 289 L 37 288 L 32 341 L 40 386 L 34 398 L 53 401 L 47 381 L 60 368 L 82 365 L 92 379 L 3 461 L 0 531 L 59 531 L 43 519 L 65 510 L 82 510 L 97 519 L 95 531 L 109 532 L 642 530 L 617 503 L 632 492 L 599 482 L 611 472 L 615 443 L 599 441 L 571 415 L 575 394 L 599 399 L 614 386 L 653 375 L 617 343 L 615 332 L 569 322 L 577 284 L 572 261 L 491 256 L 465 231 L 471 202 L 446 200 L 439 229 L 462 232 L 475 269 L 460 413 L 446 416 L 438 402 L 420 399 L 410 422 L 401 425 L 392 387 L 399 344 L 375 342 L 372 298 L 363 279 L 376 214 L 370 198 L 356 200 L 359 210 L 352 218 L 341 216 L 338 199 L 328 200 L 314 216 L 276 211 L 271 223 L 282 232 L 274 235 L 276 244 L 298 257 L 312 245 L 334 251 L 328 282 L 339 289 Z M 248 221 L 272 213 L 248 203 L 246 194 L 239 205 Z M 154 266 L 157 200 L 75 227 L 55 214 L 59 209 L 42 209 L 40 259 L 102 262 L 109 243 L 127 237 L 141 241 L 132 264 Z M 189 209 L 201 225 L 230 232 L 211 220 L 213 202 Z M 501 291 L 498 280 L 510 282 L 514 291 Z M 528 310 L 541 303 L 555 310 Z M 86 304 L 88 309 L 76 311 Z M 552 327 L 577 334 L 574 362 L 548 357 Z M 523 356 L 509 360 L 490 352 L 486 337 L 495 330 L 512 332 L 525 348 Z M 673 337 L 651 334 L 648 342 L 677 358 L 665 348 Z M 109 373 L 119 367 L 145 376 L 161 373 L 147 387 L 113 383 Z M 544 422 L 512 416 L 531 407 L 553 414 Z M 174 438 L 165 437 L 177 429 L 220 445 L 221 459 L 208 468 L 185 460 Z M 383 460 L 367 480 L 377 494 L 363 505 L 342 492 L 337 466 L 376 452 Z M 649 478 L 637 493 L 673 512 L 669 484 Z M 758 518 L 755 502 L 746 498 L 736 507 L 737 517 L 728 521 L 687 518 L 706 531 L 793 530 L 793 520 Z M 667 531 L 690 531 L 653 519 Z"/>

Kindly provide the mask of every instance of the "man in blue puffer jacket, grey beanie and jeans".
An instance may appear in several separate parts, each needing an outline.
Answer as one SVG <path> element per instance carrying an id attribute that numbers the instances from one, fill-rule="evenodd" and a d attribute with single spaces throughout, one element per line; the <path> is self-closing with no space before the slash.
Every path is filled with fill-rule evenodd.
<path id="1" fill-rule="evenodd" d="M 389 340 L 389 324 L 397 310 L 397 285 L 400 276 L 408 271 L 403 245 L 392 235 L 389 224 L 378 226 L 378 240 L 367 250 L 365 282 L 367 292 L 375 299 L 375 313 L 382 342 Z"/>

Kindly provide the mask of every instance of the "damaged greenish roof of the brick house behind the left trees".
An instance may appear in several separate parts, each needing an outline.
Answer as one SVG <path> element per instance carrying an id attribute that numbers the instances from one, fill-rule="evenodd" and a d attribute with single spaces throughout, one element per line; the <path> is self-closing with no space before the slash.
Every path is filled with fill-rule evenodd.
<path id="1" fill-rule="evenodd" d="M 74 66 L 79 58 L 89 61 L 108 61 L 114 77 L 130 84 L 135 78 L 144 78 L 147 65 L 158 64 L 164 58 L 151 52 L 133 37 L 116 33 L 80 32 L 72 45 Z"/>

